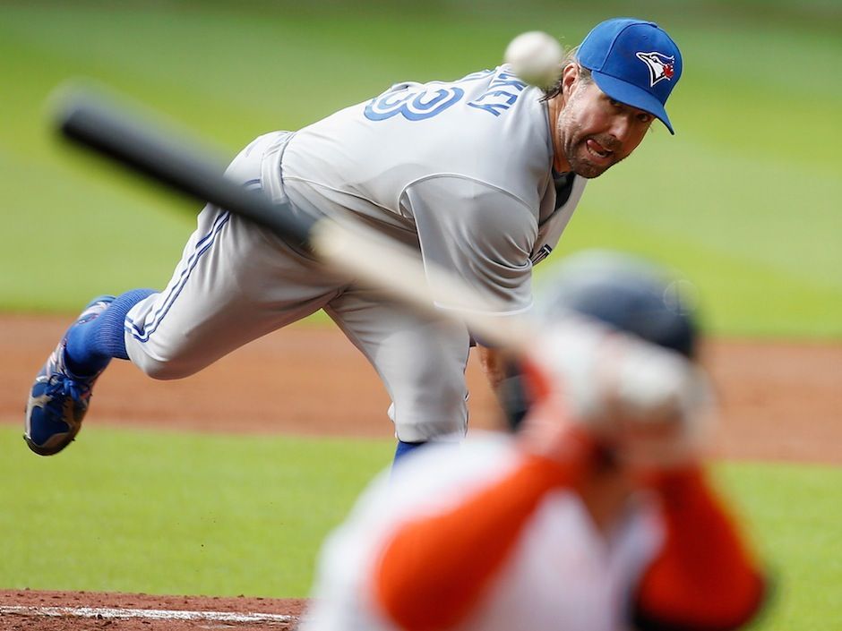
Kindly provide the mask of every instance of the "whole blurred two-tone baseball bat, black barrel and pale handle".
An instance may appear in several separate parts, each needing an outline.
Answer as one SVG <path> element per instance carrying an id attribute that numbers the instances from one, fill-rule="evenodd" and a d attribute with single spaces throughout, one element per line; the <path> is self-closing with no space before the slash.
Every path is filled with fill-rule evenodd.
<path id="1" fill-rule="evenodd" d="M 418 252 L 362 224 L 340 226 L 329 217 L 293 213 L 288 203 L 274 203 L 262 192 L 245 189 L 225 176 L 223 162 L 209 158 L 207 150 L 111 98 L 91 90 L 61 90 L 54 110 L 57 129 L 73 142 L 202 203 L 248 217 L 417 309 L 460 320 L 487 344 L 514 353 L 529 344 L 528 322 L 487 315 L 502 311 L 501 305 L 443 269 L 425 269 Z M 437 310 L 436 304 L 447 308 Z"/>

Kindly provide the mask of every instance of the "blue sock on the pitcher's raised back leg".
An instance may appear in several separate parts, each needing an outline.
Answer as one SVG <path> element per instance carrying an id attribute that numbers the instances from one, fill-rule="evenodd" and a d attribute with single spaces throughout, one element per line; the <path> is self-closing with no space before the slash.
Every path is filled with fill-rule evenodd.
<path id="1" fill-rule="evenodd" d="M 118 295 L 105 311 L 93 320 L 77 324 L 67 331 L 64 361 L 74 374 L 93 375 L 108 365 L 112 357 L 128 359 L 125 352 L 125 314 L 154 289 L 133 289 Z"/>

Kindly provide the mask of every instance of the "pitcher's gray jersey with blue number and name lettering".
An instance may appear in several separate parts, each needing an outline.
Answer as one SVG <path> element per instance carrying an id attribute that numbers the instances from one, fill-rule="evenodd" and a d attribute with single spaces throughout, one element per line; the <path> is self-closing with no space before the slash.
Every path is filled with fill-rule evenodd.
<path id="1" fill-rule="evenodd" d="M 532 265 L 584 189 L 558 204 L 543 92 L 509 66 L 459 81 L 400 83 L 296 132 L 279 172 L 297 206 L 351 213 L 419 247 L 502 306 L 531 305 Z M 447 307 L 449 305 L 441 305 Z"/>

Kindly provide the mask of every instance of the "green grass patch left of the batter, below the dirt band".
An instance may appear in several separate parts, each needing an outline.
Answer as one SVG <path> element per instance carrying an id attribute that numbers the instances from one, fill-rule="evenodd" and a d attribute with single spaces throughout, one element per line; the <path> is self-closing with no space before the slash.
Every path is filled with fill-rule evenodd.
<path id="1" fill-rule="evenodd" d="M 391 455 L 99 427 L 41 459 L 20 434 L 0 425 L 0 589 L 304 596 L 325 534 Z"/>

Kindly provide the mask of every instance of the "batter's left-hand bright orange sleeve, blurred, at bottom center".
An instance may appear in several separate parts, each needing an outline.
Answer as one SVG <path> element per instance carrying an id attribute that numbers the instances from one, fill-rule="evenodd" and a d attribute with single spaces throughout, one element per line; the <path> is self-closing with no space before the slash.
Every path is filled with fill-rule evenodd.
<path id="1" fill-rule="evenodd" d="M 527 456 L 457 507 L 402 524 L 375 567 L 375 601 L 407 631 L 459 623 L 481 599 L 546 491 L 574 484 L 581 468 Z"/>

